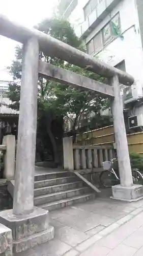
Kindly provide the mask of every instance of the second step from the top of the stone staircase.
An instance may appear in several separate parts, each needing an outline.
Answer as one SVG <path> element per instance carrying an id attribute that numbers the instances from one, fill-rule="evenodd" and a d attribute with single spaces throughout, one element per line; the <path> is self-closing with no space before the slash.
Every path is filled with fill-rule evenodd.
<path id="1" fill-rule="evenodd" d="M 76 176 L 46 179 L 46 180 L 35 181 L 34 187 L 35 188 L 46 187 L 46 186 L 52 186 L 52 185 L 56 185 L 56 184 L 75 182 L 78 180 L 79 179 Z"/>

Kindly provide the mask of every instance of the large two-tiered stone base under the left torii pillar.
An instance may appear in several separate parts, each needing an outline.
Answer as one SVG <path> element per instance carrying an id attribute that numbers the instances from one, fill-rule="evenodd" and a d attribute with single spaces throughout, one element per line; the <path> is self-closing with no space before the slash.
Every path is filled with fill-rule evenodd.
<path id="1" fill-rule="evenodd" d="M 27 216 L 13 215 L 12 210 L 0 212 L 0 223 L 12 230 L 13 252 L 25 251 L 54 237 L 54 228 L 49 226 L 48 211 L 34 207 Z"/>

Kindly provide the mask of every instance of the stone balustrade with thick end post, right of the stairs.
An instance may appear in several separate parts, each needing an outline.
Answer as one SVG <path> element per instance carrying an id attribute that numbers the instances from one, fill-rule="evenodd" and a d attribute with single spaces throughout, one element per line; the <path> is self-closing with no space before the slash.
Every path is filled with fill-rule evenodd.
<path id="1" fill-rule="evenodd" d="M 103 161 L 113 158 L 111 145 L 73 145 L 72 137 L 63 139 L 64 169 L 83 170 L 101 168 Z"/>

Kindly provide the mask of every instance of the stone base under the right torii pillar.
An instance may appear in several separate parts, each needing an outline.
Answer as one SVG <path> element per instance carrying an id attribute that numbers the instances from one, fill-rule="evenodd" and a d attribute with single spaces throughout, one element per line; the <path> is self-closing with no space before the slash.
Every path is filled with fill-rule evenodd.
<path id="1" fill-rule="evenodd" d="M 134 202 L 143 198 L 143 186 L 133 185 L 131 187 L 122 187 L 121 185 L 112 186 L 112 199 L 126 202 Z"/>

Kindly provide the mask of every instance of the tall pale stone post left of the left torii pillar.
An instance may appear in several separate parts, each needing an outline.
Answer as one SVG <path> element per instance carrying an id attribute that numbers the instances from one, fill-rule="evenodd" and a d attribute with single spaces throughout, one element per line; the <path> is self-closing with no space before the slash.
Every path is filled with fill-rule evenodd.
<path id="1" fill-rule="evenodd" d="M 11 180 L 15 176 L 15 136 L 4 136 L 3 144 L 6 145 L 4 178 Z"/>

